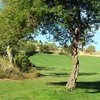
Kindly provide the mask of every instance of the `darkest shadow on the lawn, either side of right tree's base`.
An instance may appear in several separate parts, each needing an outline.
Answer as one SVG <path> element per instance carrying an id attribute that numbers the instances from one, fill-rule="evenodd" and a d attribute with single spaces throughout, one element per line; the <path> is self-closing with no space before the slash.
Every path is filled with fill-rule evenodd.
<path id="1" fill-rule="evenodd" d="M 48 85 L 66 86 L 67 82 L 49 82 Z M 77 82 L 77 88 L 81 89 L 94 89 L 95 91 L 86 91 L 86 93 L 99 93 L 100 81 L 96 82 Z"/>

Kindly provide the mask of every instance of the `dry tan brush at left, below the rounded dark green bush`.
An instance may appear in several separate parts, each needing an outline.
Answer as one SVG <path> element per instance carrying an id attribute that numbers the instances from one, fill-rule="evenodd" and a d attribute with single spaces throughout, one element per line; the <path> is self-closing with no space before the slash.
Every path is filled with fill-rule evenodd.
<path id="1" fill-rule="evenodd" d="M 17 58 L 17 57 L 16 57 Z M 19 57 L 21 59 L 21 57 Z M 20 61 L 17 60 L 20 64 Z M 22 62 L 25 60 L 23 59 Z M 22 63 L 23 66 L 26 66 L 25 63 Z M 32 66 L 32 65 L 31 65 Z M 23 70 L 26 70 L 26 68 Z M 34 66 L 29 67 L 27 73 L 23 73 L 17 68 L 9 63 L 6 57 L 0 58 L 0 78 L 9 78 L 9 79 L 32 79 L 37 78 L 39 73 L 34 68 Z"/>

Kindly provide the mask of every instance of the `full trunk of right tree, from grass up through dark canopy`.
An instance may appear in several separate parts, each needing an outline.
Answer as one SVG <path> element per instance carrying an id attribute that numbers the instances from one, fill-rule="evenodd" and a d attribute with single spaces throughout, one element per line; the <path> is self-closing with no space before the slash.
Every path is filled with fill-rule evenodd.
<path id="1" fill-rule="evenodd" d="M 81 11 L 79 7 L 78 0 L 74 0 L 77 10 L 77 28 L 71 30 L 73 41 L 71 43 L 71 55 L 72 55 L 72 72 L 66 87 L 69 90 L 73 90 L 76 87 L 76 80 L 79 73 L 79 59 L 78 59 L 78 42 L 79 42 L 79 34 L 81 29 Z"/>

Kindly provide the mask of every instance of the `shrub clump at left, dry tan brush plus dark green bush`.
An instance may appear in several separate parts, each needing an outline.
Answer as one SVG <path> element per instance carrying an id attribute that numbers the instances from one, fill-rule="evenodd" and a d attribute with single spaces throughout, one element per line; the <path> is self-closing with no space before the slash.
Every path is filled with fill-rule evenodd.
<path id="1" fill-rule="evenodd" d="M 34 68 L 35 65 L 30 63 L 27 56 L 17 55 L 16 59 L 16 63 L 18 65 L 21 64 L 21 68 L 11 65 L 7 60 L 7 57 L 0 57 L 0 78 L 32 79 L 37 78 L 40 75 L 36 68 Z"/>

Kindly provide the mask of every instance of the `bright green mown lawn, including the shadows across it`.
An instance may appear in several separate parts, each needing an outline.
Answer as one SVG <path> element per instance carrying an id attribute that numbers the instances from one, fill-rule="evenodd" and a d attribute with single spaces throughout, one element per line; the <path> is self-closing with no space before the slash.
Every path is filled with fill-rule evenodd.
<path id="1" fill-rule="evenodd" d="M 100 58 L 80 56 L 77 88 L 65 88 L 71 57 L 37 54 L 30 57 L 42 76 L 34 80 L 0 80 L 0 100 L 100 100 Z"/>

